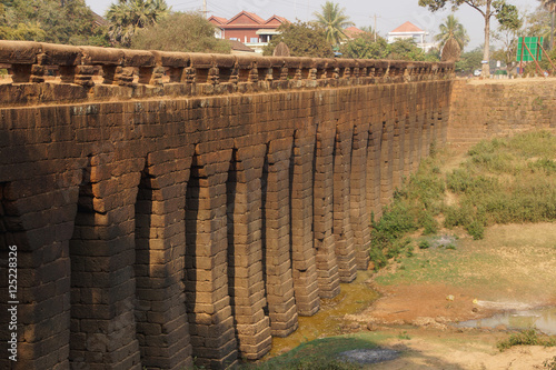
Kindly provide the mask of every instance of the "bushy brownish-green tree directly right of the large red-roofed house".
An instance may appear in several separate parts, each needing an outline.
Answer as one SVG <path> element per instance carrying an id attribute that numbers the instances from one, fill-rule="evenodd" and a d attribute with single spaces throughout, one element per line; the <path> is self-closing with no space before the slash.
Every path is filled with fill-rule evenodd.
<path id="1" fill-rule="evenodd" d="M 326 39 L 326 32 L 318 24 L 298 21 L 297 23 L 282 23 L 278 30 L 281 33 L 272 37 L 262 50 L 264 56 L 271 56 L 276 46 L 284 41 L 288 46 L 291 57 L 334 57 L 332 48 Z"/>

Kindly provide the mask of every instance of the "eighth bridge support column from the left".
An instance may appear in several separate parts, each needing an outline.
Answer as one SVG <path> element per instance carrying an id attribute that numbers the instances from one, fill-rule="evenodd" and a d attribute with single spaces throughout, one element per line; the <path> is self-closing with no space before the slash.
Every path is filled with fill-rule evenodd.
<path id="1" fill-rule="evenodd" d="M 321 124 L 315 146 L 312 229 L 320 298 L 332 298 L 340 292 L 332 233 L 335 136 L 336 128 Z"/>

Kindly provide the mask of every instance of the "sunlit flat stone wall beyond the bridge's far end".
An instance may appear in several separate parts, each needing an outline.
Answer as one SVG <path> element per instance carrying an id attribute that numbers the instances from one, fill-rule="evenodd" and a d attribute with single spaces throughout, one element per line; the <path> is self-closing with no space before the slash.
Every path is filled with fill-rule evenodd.
<path id="1" fill-rule="evenodd" d="M 473 143 L 532 129 L 555 128 L 555 79 L 454 82 L 449 142 Z"/>

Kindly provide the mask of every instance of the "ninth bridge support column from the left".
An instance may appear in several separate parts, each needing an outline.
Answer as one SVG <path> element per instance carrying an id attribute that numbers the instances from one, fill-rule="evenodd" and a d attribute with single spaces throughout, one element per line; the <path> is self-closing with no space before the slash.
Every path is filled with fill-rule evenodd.
<path id="1" fill-rule="evenodd" d="M 357 264 L 354 249 L 354 231 L 349 218 L 349 188 L 351 176 L 351 140 L 353 123 L 336 128 L 334 153 L 334 239 L 338 271 L 341 282 L 354 281 L 357 277 Z"/>

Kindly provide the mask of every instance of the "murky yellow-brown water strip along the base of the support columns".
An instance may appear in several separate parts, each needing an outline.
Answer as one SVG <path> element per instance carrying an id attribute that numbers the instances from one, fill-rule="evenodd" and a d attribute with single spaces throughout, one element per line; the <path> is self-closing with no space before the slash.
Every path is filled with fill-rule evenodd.
<path id="1" fill-rule="evenodd" d="M 299 317 L 299 328 L 289 337 L 272 338 L 272 349 L 265 359 L 291 350 L 302 342 L 340 334 L 346 313 L 359 313 L 378 298 L 378 293 L 365 282 L 371 274 L 371 271 L 358 271 L 355 281 L 340 284 L 338 296 L 321 299 L 320 310 L 311 317 Z"/>

